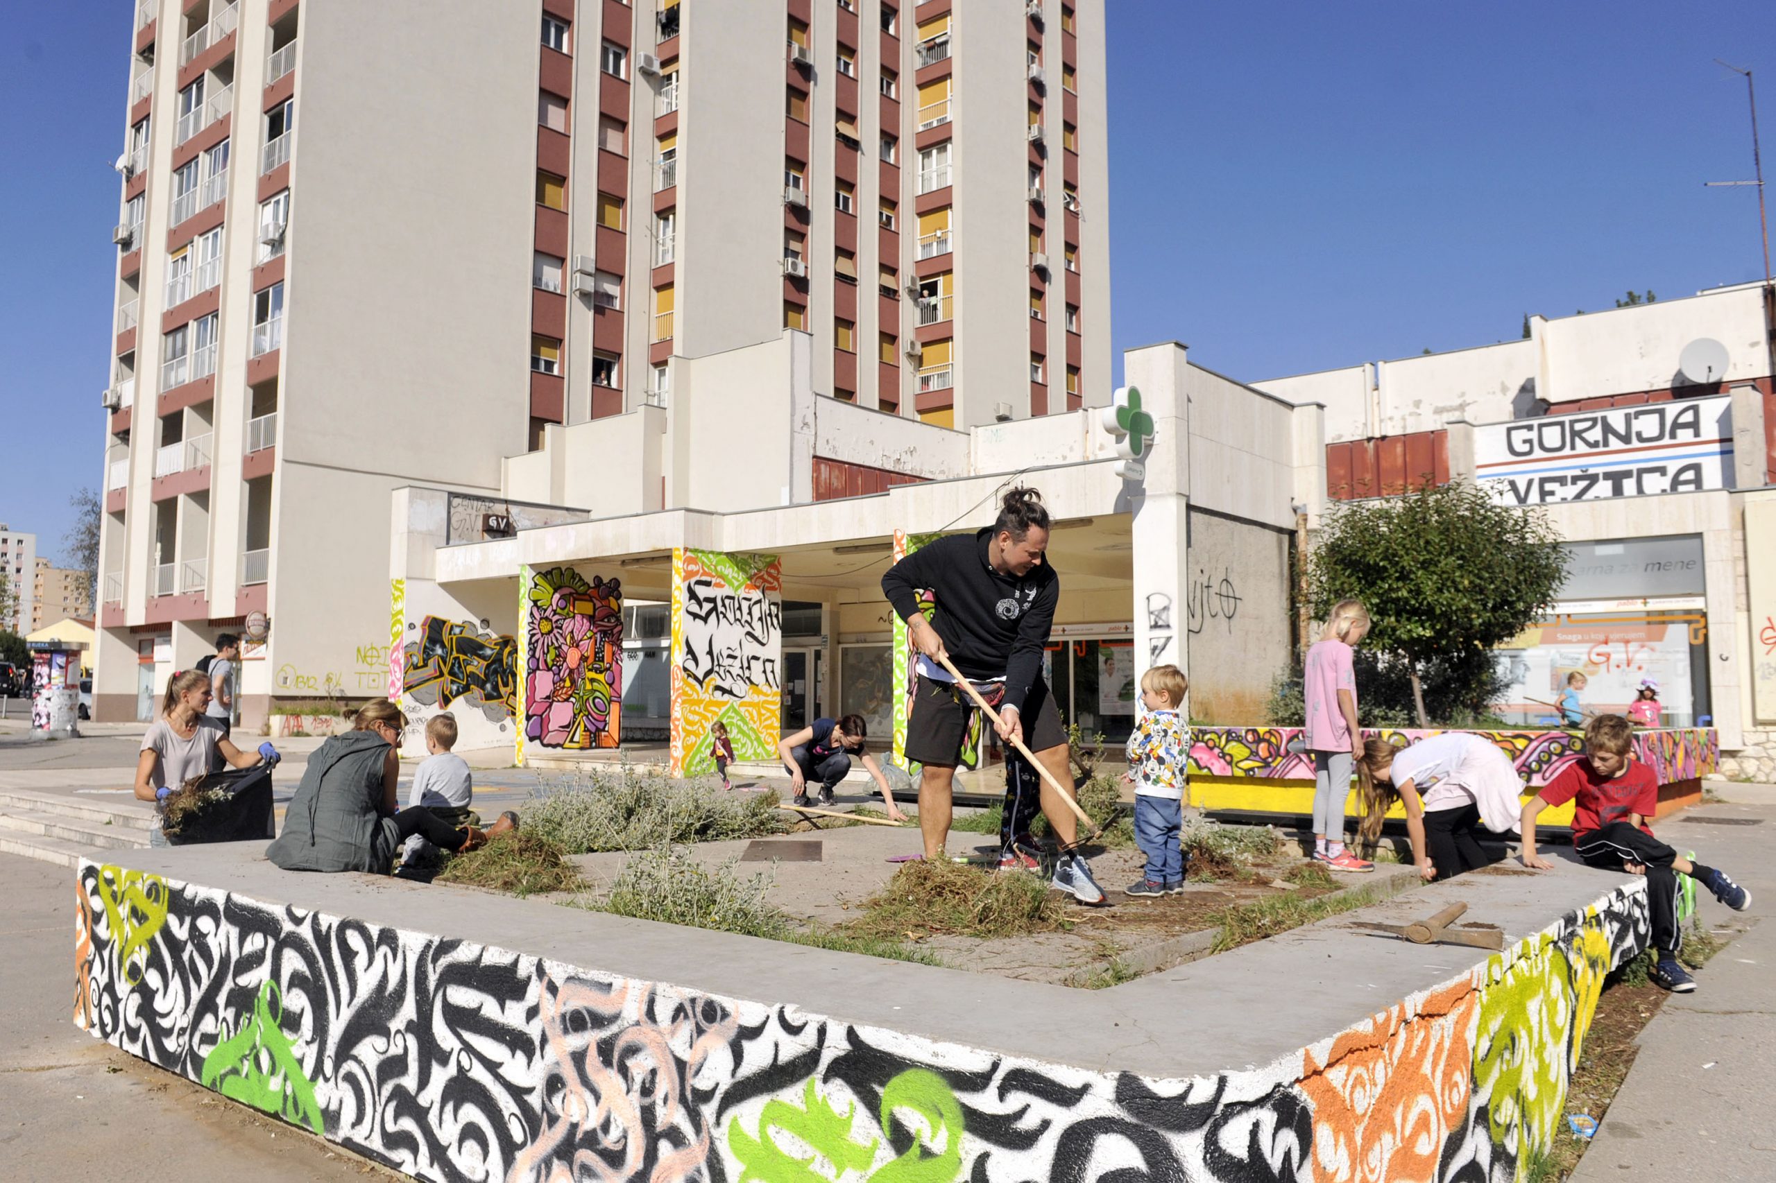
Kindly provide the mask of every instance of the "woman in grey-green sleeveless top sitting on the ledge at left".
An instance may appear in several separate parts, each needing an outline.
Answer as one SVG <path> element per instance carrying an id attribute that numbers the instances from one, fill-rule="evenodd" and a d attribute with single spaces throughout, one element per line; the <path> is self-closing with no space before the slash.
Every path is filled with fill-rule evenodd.
<path id="1" fill-rule="evenodd" d="M 513 828 L 501 815 L 485 833 L 456 830 L 424 806 L 396 812 L 401 730 L 407 716 L 385 698 L 357 712 L 357 725 L 309 757 L 297 796 L 284 812 L 284 833 L 265 856 L 284 870 L 369 870 L 389 874 L 412 835 L 446 851 L 472 851 L 488 835 Z"/>

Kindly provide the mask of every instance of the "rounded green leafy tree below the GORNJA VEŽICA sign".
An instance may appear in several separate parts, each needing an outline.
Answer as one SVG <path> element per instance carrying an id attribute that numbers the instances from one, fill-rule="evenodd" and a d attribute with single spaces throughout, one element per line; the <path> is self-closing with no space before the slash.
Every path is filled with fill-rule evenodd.
<path id="1" fill-rule="evenodd" d="M 1565 579 L 1566 554 L 1542 510 L 1451 483 L 1328 510 L 1307 586 L 1320 618 L 1346 597 L 1368 606 L 1364 648 L 1405 670 L 1419 726 L 1430 726 L 1426 671 L 1446 703 L 1490 698 L 1490 650 L 1547 613 Z"/>

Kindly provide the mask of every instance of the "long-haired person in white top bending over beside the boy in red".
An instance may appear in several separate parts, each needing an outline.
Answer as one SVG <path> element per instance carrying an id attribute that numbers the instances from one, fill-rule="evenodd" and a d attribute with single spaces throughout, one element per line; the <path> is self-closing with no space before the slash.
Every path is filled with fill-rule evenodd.
<path id="1" fill-rule="evenodd" d="M 1412 837 L 1412 863 L 1424 879 L 1447 879 L 1492 860 L 1474 838 L 1517 828 L 1524 782 L 1511 758 L 1485 735 L 1444 732 L 1410 748 L 1380 737 L 1362 744 L 1357 760 L 1364 846 L 1382 837 L 1382 819 L 1399 798 Z"/>

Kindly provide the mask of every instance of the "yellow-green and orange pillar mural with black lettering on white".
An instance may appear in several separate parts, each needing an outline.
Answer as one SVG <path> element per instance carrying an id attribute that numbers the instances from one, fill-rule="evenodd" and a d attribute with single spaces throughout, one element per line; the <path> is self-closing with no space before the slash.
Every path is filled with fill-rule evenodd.
<path id="1" fill-rule="evenodd" d="M 671 774 L 714 771 L 719 719 L 741 760 L 771 760 L 781 734 L 783 576 L 773 554 L 673 551 Z"/>

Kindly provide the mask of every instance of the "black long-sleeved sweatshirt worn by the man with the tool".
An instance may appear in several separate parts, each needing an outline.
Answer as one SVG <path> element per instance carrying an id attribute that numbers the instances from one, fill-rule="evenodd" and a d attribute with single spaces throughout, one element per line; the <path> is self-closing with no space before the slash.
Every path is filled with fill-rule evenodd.
<path id="1" fill-rule="evenodd" d="M 1005 705 L 1023 700 L 1043 673 L 1060 577 L 1048 563 L 1021 579 L 987 563 L 991 529 L 950 535 L 913 551 L 883 574 L 883 593 L 900 620 L 918 611 L 916 590 L 936 599 L 931 623 L 966 679 L 1005 679 Z"/>

